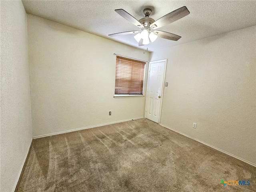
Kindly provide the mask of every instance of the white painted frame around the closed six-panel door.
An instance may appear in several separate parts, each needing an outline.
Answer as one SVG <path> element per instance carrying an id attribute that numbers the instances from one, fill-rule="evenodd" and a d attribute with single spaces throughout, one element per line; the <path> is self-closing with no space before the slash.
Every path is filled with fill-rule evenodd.
<path id="1" fill-rule="evenodd" d="M 162 60 L 156 60 L 156 61 L 148 62 L 148 78 L 147 78 L 147 89 L 146 89 L 146 99 L 145 99 L 145 109 L 144 109 L 144 118 L 146 118 L 146 106 L 147 106 L 146 102 L 147 102 L 147 94 L 148 94 L 150 66 L 151 66 L 152 63 L 159 63 L 159 62 L 165 62 L 165 64 L 164 64 L 164 77 L 163 77 L 163 85 L 162 85 L 162 93 L 161 93 L 162 99 L 161 99 L 161 102 L 160 102 L 160 111 L 159 111 L 158 124 L 160 124 L 161 114 L 162 114 L 162 103 L 163 103 L 163 95 L 164 95 L 164 84 L 165 84 L 165 74 L 166 74 L 167 59 L 162 59 Z"/>

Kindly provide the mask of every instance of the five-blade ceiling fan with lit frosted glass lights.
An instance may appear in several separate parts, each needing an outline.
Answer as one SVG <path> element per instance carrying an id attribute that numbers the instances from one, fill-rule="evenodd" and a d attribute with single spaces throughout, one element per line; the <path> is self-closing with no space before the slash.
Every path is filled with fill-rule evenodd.
<path id="1" fill-rule="evenodd" d="M 152 10 L 149 8 L 144 9 L 143 13 L 145 18 L 137 20 L 133 16 L 131 16 L 128 12 L 123 9 L 116 9 L 115 10 L 118 14 L 120 14 L 123 18 L 131 22 L 132 24 L 136 25 L 139 30 L 137 31 L 127 31 L 121 33 L 114 33 L 110 34 L 109 36 L 119 36 L 119 35 L 128 35 L 128 34 L 136 34 L 134 36 L 135 40 L 139 43 L 139 46 L 147 45 L 151 42 L 154 42 L 156 38 L 159 36 L 164 39 L 169 39 L 173 41 L 177 41 L 181 38 L 181 36 L 156 30 L 164 25 L 170 24 L 176 20 L 183 18 L 184 16 L 190 14 L 186 6 L 178 8 L 173 12 L 166 14 L 165 16 L 161 17 L 158 20 L 154 20 L 150 18 L 150 14 Z"/>

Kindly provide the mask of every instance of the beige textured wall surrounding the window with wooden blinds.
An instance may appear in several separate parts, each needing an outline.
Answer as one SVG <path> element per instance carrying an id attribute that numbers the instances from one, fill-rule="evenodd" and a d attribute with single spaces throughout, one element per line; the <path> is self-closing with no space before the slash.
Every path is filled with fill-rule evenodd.
<path id="1" fill-rule="evenodd" d="M 145 98 L 114 98 L 114 53 L 148 52 L 30 14 L 28 50 L 33 136 L 144 117 Z"/>

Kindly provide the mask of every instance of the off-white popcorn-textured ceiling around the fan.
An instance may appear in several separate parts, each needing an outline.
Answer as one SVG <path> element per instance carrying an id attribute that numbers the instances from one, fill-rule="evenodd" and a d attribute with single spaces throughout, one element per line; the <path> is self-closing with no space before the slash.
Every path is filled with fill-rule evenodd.
<path id="1" fill-rule="evenodd" d="M 108 34 L 138 30 L 136 26 L 117 14 L 124 9 L 137 20 L 143 18 L 144 8 L 151 8 L 151 18 L 158 18 L 182 6 L 190 11 L 188 16 L 159 30 L 182 36 L 177 42 L 157 38 L 153 43 L 139 48 L 156 51 L 178 44 L 215 36 L 225 32 L 256 25 L 256 1 L 133 1 L 133 0 L 79 0 L 48 1 L 23 0 L 29 14 L 40 16 L 85 32 L 138 47 L 134 34 L 109 37 Z M 241 37 L 242 38 L 242 37 Z"/>

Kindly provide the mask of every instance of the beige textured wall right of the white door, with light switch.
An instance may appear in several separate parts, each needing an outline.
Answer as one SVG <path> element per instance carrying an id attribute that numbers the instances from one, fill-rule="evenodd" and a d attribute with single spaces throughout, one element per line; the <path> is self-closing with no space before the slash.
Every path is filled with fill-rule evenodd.
<path id="1" fill-rule="evenodd" d="M 255 42 L 252 26 L 154 52 L 168 59 L 161 124 L 256 164 Z"/>

